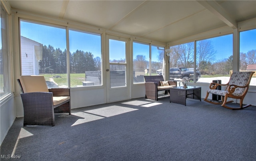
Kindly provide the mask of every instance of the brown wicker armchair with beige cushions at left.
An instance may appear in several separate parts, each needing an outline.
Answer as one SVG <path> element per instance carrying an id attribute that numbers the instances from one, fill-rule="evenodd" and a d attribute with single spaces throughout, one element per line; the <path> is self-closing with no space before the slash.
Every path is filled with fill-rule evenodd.
<path id="1" fill-rule="evenodd" d="M 20 76 L 26 125 L 55 125 L 54 113 L 71 114 L 70 89 L 48 89 L 44 76 Z"/>

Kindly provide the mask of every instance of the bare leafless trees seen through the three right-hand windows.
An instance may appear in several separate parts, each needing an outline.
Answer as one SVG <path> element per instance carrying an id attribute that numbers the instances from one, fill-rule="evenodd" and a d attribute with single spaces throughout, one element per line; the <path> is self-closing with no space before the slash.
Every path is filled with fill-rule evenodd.
<path id="1" fill-rule="evenodd" d="M 194 42 L 171 47 L 170 67 L 194 68 Z M 225 55 L 225 53 L 223 53 Z M 248 65 L 256 64 L 256 50 L 240 53 L 240 71 Z M 229 75 L 233 67 L 233 55 L 226 59 L 217 59 L 216 50 L 211 40 L 196 43 L 196 69 L 202 75 Z"/>

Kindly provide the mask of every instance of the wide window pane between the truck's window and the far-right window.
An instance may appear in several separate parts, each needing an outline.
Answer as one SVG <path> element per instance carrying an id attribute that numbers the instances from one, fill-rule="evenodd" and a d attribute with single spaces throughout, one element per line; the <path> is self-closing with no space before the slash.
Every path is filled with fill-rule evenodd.
<path id="1" fill-rule="evenodd" d="M 221 80 L 226 84 L 233 67 L 233 35 L 224 35 L 196 42 L 196 63 L 201 73 L 198 82 Z"/>

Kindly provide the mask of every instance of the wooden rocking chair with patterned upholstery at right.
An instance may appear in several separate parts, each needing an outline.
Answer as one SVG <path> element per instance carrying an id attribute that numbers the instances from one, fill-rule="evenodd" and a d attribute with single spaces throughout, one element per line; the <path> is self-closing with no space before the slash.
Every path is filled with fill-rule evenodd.
<path id="1" fill-rule="evenodd" d="M 218 83 L 212 82 L 210 84 L 210 89 L 207 90 L 206 92 L 206 97 L 204 100 L 212 104 L 222 104 L 221 106 L 228 109 L 232 109 L 232 110 L 243 109 L 251 106 L 250 104 L 243 106 L 243 100 L 248 91 L 249 84 L 253 74 L 254 72 L 252 71 L 234 72 L 232 73 L 230 80 L 227 84 L 218 84 Z M 226 90 L 217 90 L 216 89 L 217 86 L 227 86 L 227 87 L 226 87 Z M 222 96 L 222 102 L 211 102 L 210 100 L 208 100 L 207 98 L 209 96 L 209 93 Z M 233 101 L 227 101 L 228 97 L 240 99 L 240 108 L 232 108 L 227 106 L 226 104 L 233 102 Z"/>

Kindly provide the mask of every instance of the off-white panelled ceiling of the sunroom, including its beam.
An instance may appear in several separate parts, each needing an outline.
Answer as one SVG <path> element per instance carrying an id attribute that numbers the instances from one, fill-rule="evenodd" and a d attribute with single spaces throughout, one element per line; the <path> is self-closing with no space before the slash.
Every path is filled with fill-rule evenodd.
<path id="1" fill-rule="evenodd" d="M 255 0 L 8 0 L 12 8 L 170 42 L 256 18 Z"/>

